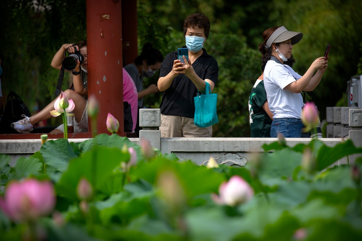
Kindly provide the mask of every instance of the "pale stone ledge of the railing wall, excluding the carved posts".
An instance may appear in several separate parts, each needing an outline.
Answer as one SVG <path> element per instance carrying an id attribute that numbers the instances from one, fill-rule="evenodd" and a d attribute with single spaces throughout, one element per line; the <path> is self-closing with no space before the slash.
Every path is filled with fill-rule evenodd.
<path id="1" fill-rule="evenodd" d="M 71 139 L 71 142 L 83 142 L 87 139 Z M 139 138 L 129 138 L 139 145 Z M 333 147 L 341 142 L 341 138 L 320 138 L 325 145 Z M 161 153 L 173 152 L 181 161 L 192 160 L 202 165 L 213 158 L 227 154 L 236 154 L 239 159 L 252 160 L 255 153 L 264 152 L 264 144 L 278 141 L 278 138 L 161 138 Z M 287 138 L 286 144 L 293 147 L 299 143 L 308 143 L 311 138 Z M 41 148 L 40 139 L 0 140 L 0 153 L 8 154 L 12 164 L 22 156 L 29 157 Z M 233 156 L 236 156 L 233 155 Z M 340 160 L 345 162 L 345 160 Z M 339 163 L 339 162 L 338 162 Z"/>

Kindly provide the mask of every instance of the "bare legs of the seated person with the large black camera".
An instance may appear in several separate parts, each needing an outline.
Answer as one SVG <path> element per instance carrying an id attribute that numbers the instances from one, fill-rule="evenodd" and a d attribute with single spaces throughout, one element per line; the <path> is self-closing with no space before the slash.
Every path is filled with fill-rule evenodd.
<path id="1" fill-rule="evenodd" d="M 79 95 L 77 92 L 75 92 L 73 90 L 68 89 L 68 90 L 65 90 L 64 93 L 67 95 L 68 99 L 73 100 L 73 102 L 75 104 L 75 108 L 74 108 L 73 112 L 75 114 L 76 120 L 78 122 L 80 122 L 84 109 L 85 109 L 85 106 L 87 104 L 87 101 L 81 95 Z M 59 96 L 56 99 L 58 99 L 58 98 L 59 98 Z M 42 109 L 35 115 L 30 116 L 29 117 L 30 124 L 35 125 L 39 121 L 50 119 L 52 117 L 50 115 L 50 111 L 54 110 L 54 103 L 55 103 L 56 99 L 54 99 L 52 102 L 50 102 L 44 109 Z"/>

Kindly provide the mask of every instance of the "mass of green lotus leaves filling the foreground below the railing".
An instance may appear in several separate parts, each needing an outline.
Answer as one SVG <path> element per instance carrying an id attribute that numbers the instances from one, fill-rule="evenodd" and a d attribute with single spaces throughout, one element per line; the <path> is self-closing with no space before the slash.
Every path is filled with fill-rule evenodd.
<path id="1" fill-rule="evenodd" d="M 129 147 L 137 153 L 133 165 Z M 25 220 L 14 222 L 4 211 L 7 195 L 24 198 L 22 190 L 10 194 L 8 183 L 24 178 L 50 180 L 55 188 L 54 214 L 32 220 L 38 240 L 361 239 L 362 158 L 334 165 L 362 153 L 351 140 L 333 147 L 319 139 L 294 147 L 279 140 L 264 145 L 264 152 L 242 167 L 199 166 L 159 150 L 147 159 L 142 148 L 125 137 L 100 134 L 80 143 L 49 140 L 14 166 L 1 154 L 0 239 L 23 240 L 27 232 Z M 232 199 L 245 195 L 246 189 L 222 188 L 234 176 L 251 186 L 253 197 L 235 206 L 216 203 L 217 193 Z M 87 201 L 77 195 L 82 178 L 93 190 Z"/>

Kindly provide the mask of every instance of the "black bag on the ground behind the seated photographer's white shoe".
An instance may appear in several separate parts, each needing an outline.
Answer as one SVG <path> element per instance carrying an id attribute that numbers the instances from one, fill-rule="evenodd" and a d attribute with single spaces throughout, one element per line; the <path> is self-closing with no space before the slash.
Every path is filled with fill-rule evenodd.
<path id="1" fill-rule="evenodd" d="M 15 94 L 15 92 L 10 91 L 8 100 L 5 104 L 3 116 L 1 117 L 0 134 L 18 133 L 16 130 L 11 128 L 10 124 L 24 119 L 21 115 L 30 116 L 30 111 L 22 99 Z"/>

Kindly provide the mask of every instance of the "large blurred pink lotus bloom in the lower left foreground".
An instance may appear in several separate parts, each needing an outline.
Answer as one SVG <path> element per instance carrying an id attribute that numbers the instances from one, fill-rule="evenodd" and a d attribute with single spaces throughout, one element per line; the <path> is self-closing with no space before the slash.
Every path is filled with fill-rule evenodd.
<path id="1" fill-rule="evenodd" d="M 49 181 L 26 179 L 9 182 L 0 207 L 14 221 L 35 220 L 54 209 L 54 187 Z"/>

